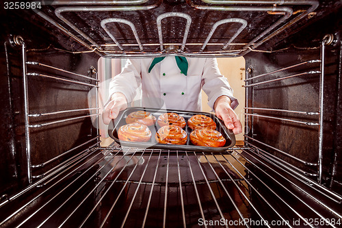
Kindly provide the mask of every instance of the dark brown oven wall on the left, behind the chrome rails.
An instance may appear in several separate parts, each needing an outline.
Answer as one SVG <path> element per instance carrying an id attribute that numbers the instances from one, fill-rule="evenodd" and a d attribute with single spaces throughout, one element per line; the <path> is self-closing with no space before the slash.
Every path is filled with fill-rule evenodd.
<path id="1" fill-rule="evenodd" d="M 6 23 L 3 23 L 3 32 L 0 35 L 2 44 L 0 46 L 0 194 L 11 195 L 29 183 L 25 141 L 23 58 L 21 46 L 14 45 L 12 42 L 14 36 L 23 38 L 27 47 L 27 61 L 48 64 L 82 75 L 95 76 L 91 74 L 90 68 L 97 68 L 98 55 L 94 53 L 73 54 L 70 51 L 61 51 L 81 50 L 81 48 L 77 42 L 29 10 L 1 10 L 1 19 Z M 28 65 L 27 72 L 90 83 L 88 79 L 79 79 L 77 76 L 42 66 Z M 88 99 L 90 96 L 89 86 L 74 85 L 39 76 L 28 76 L 28 94 L 30 114 L 94 106 L 94 99 Z M 85 115 L 87 112 L 30 118 L 30 124 L 58 121 L 81 114 Z M 46 162 L 94 137 L 96 137 L 96 129 L 94 129 L 90 118 L 31 128 L 31 164 Z M 66 157 L 71 157 L 77 151 L 84 150 L 89 146 L 90 144 L 86 144 L 48 166 L 32 169 L 32 175 L 41 175 L 53 166 L 60 164 Z M 31 181 L 35 181 L 35 179 L 31 179 Z"/>

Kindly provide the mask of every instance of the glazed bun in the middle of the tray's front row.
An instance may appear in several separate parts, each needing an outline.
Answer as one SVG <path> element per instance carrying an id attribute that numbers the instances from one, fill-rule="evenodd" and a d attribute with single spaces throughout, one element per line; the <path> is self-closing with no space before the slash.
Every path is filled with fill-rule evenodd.
<path id="1" fill-rule="evenodd" d="M 187 132 L 176 125 L 167 125 L 159 128 L 155 134 L 155 139 L 163 144 L 179 144 L 187 143 Z"/>

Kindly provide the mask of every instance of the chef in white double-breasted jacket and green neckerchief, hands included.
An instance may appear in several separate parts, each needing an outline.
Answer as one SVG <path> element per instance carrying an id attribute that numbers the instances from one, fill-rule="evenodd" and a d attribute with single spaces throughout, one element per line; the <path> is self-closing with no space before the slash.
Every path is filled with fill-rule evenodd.
<path id="1" fill-rule="evenodd" d="M 109 102 L 103 110 L 103 122 L 109 124 L 118 112 L 133 101 L 142 86 L 142 106 L 166 109 L 202 110 L 200 90 L 208 96 L 208 105 L 234 134 L 242 131 L 234 109 L 239 104 L 226 77 L 221 75 L 215 58 L 185 58 L 168 55 L 160 58 L 133 58 L 109 84 Z"/>

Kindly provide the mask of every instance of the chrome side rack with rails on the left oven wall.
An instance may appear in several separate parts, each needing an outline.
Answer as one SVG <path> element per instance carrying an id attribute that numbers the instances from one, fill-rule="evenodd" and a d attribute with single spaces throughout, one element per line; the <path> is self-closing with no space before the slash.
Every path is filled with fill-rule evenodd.
<path id="1" fill-rule="evenodd" d="M 43 177 L 49 176 L 51 173 L 54 173 L 55 170 L 60 170 L 61 167 L 65 167 L 66 164 L 69 162 L 73 162 L 73 160 L 77 159 L 79 156 L 83 156 L 83 154 L 94 147 L 95 145 L 99 146 L 100 143 L 100 136 L 98 132 L 98 116 L 100 115 L 99 110 L 100 107 L 98 106 L 98 75 L 95 68 L 90 68 L 90 76 L 87 75 L 81 75 L 78 73 L 74 73 L 71 71 L 66 71 L 62 68 L 58 68 L 55 66 L 51 66 L 49 64 L 43 64 L 41 62 L 28 62 L 26 60 L 26 45 L 23 40 L 23 38 L 19 37 L 18 40 L 20 41 L 18 44 L 21 45 L 21 54 L 22 54 L 22 68 L 23 68 L 23 90 L 24 90 L 24 109 L 25 109 L 25 144 L 26 144 L 26 160 L 27 160 L 27 179 L 29 180 L 29 183 L 38 183 L 36 180 L 41 179 Z M 38 66 L 38 68 L 34 69 L 34 72 L 28 72 L 27 66 Z M 47 73 L 39 73 L 40 68 L 49 68 L 56 73 L 53 74 L 47 74 Z M 67 75 L 62 76 L 62 74 Z M 44 79 L 52 79 L 58 82 L 67 83 L 67 84 L 73 84 L 73 85 L 81 85 L 81 86 L 88 86 L 89 88 L 94 88 L 95 90 L 95 107 L 86 107 L 81 109 L 73 109 L 73 110 L 59 110 L 55 112 L 44 112 L 44 113 L 30 113 L 29 112 L 29 87 L 28 87 L 28 81 L 29 77 L 42 77 Z M 73 77 L 76 77 L 74 79 Z M 89 82 L 84 82 L 79 80 L 81 79 L 87 79 Z M 94 83 L 94 84 L 93 84 Z M 88 112 L 88 114 L 82 114 L 84 112 Z M 81 113 L 81 114 L 78 114 Z M 76 117 L 63 117 L 62 119 L 54 120 L 55 118 L 59 118 L 58 115 L 60 114 L 76 114 Z M 31 121 L 39 121 L 39 118 L 45 117 L 45 116 L 52 116 L 53 119 L 49 121 L 44 121 L 44 123 L 38 123 L 38 124 L 30 124 Z M 35 153 L 36 151 L 31 151 L 31 138 L 30 138 L 30 131 L 31 129 L 35 128 L 42 128 L 43 130 L 47 131 L 48 129 L 44 129 L 46 126 L 50 125 L 56 125 L 59 123 L 68 123 L 69 121 L 75 121 L 75 120 L 81 120 L 84 118 L 95 118 L 94 121 L 94 127 L 96 128 L 96 137 L 88 138 L 86 142 L 82 142 L 79 145 L 76 145 L 75 147 L 68 149 L 67 151 L 64 151 L 60 153 L 60 155 L 57 155 L 55 157 L 52 157 L 51 159 L 42 162 L 41 164 L 31 164 L 31 154 Z M 95 144 L 91 144 L 95 142 Z M 60 164 L 57 164 L 53 166 L 52 168 L 49 168 L 48 170 L 44 170 L 44 173 L 42 173 L 40 168 L 43 168 L 45 166 L 51 165 L 53 162 L 56 162 L 57 160 L 62 159 L 63 157 L 66 157 L 66 155 L 70 155 L 75 153 L 78 149 L 82 149 L 87 147 L 88 149 L 83 150 L 81 153 L 77 153 L 76 155 L 73 155 L 72 157 L 68 157 L 68 159 L 65 159 L 64 161 L 60 162 Z M 33 174 L 35 173 L 35 174 Z"/>

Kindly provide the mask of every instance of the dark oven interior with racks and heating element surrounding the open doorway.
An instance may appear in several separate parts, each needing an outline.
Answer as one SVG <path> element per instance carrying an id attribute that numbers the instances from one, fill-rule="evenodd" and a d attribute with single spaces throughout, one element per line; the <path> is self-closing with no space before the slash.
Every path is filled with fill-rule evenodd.
<path id="1" fill-rule="evenodd" d="M 341 227 L 341 13 L 321 0 L 3 2 L 0 227 Z M 98 59 L 166 55 L 244 57 L 244 144 L 101 144 Z"/>

